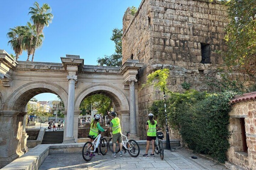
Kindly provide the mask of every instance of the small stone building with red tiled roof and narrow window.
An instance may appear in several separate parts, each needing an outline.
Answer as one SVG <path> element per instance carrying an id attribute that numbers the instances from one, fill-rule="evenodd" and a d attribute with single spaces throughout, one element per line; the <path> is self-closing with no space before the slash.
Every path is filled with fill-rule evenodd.
<path id="1" fill-rule="evenodd" d="M 243 94 L 231 101 L 229 112 L 230 148 L 226 166 L 236 169 L 236 165 L 246 169 L 256 169 L 256 92 Z M 235 164 L 235 165 L 233 165 Z"/>

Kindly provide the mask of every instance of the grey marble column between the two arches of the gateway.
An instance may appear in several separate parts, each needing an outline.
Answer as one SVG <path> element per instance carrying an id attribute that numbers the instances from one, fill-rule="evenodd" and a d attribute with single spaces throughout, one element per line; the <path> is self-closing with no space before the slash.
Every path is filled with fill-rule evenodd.
<path id="1" fill-rule="evenodd" d="M 66 136 L 64 137 L 63 143 L 75 143 L 74 138 L 74 107 L 75 107 L 75 82 L 77 76 L 67 76 L 69 81 L 69 96 L 68 96 L 68 109 L 67 109 L 67 120 L 66 120 Z"/>

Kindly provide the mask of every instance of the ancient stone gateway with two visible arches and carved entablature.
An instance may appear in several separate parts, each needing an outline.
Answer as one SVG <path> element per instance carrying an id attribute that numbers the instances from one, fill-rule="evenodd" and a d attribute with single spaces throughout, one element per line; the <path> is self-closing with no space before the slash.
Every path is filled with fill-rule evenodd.
<path id="1" fill-rule="evenodd" d="M 105 94 L 116 106 L 123 131 L 137 137 L 137 79 L 142 63 L 127 60 L 121 67 L 84 65 L 77 55 L 62 63 L 15 61 L 0 50 L 0 164 L 27 151 L 26 104 L 37 94 L 59 95 L 65 105 L 64 143 L 77 141 L 79 105 L 85 97 Z M 137 123 L 136 123 L 137 122 Z"/>

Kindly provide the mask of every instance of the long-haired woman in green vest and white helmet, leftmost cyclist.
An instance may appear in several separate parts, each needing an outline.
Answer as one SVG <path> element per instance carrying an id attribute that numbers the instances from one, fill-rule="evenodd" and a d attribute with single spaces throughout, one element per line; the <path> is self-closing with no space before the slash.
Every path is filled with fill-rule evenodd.
<path id="1" fill-rule="evenodd" d="M 89 142 L 93 141 L 97 136 L 98 136 L 98 132 L 104 132 L 107 131 L 107 129 L 105 130 L 104 128 L 101 127 L 100 125 L 100 117 L 101 115 L 96 114 L 93 121 L 91 121 L 91 128 L 90 128 L 90 132 L 89 132 Z"/>

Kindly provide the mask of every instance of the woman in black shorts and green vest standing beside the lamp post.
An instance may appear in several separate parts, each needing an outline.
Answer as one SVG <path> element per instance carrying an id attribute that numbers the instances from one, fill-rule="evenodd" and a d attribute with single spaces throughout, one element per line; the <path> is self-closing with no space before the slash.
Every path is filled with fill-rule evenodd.
<path id="1" fill-rule="evenodd" d="M 154 115 L 152 113 L 149 113 L 148 116 L 149 116 L 149 120 L 147 121 L 147 125 L 146 125 L 146 130 L 147 130 L 147 146 L 146 146 L 146 153 L 143 155 L 145 157 L 148 157 L 150 141 L 152 141 L 152 154 L 150 154 L 150 156 L 155 156 L 154 150 L 155 150 L 155 139 L 156 139 L 157 122 L 153 119 Z"/>

